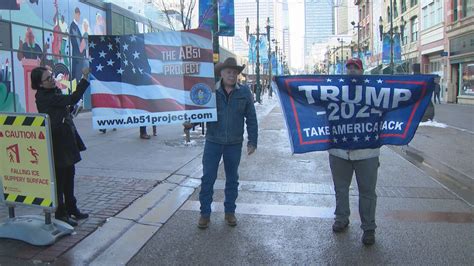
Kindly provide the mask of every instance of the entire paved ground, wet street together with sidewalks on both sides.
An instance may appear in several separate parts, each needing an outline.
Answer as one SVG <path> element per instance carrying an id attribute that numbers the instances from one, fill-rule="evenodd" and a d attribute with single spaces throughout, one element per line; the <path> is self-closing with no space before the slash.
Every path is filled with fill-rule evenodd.
<path id="1" fill-rule="evenodd" d="M 439 117 L 447 127 L 421 126 L 409 147 L 442 165 L 428 161 L 417 167 L 403 157 L 406 148 L 382 148 L 377 242 L 369 248 L 360 242 L 355 181 L 349 230 L 336 235 L 331 230 L 335 199 L 328 155 L 291 155 L 275 99 L 265 97 L 264 104 L 257 105 L 259 147 L 255 155 L 242 156 L 235 228 L 223 220 L 222 167 L 211 225 L 207 230 L 196 226 L 203 148 L 199 130 L 192 133 L 190 146 L 184 145 L 180 126 L 159 127 L 157 137 L 140 140 L 138 129 L 106 134 L 92 130 L 90 113 L 81 114 L 76 122 L 88 150 L 78 165 L 76 186 L 79 207 L 92 217 L 76 228 L 77 234 L 51 247 L 2 241 L 0 261 L 22 265 L 40 261 L 59 265 L 467 264 L 474 249 L 469 198 L 474 171 L 472 158 L 458 154 L 473 154 L 473 146 L 465 145 L 473 143 L 472 123 L 461 122 L 462 114 L 472 112 L 472 107 L 436 108 L 435 119 Z M 464 139 L 457 141 L 460 138 Z M 424 169 L 426 165 L 433 168 Z M 430 174 L 430 169 L 438 175 Z M 437 179 L 440 172 L 450 174 L 451 183 L 459 173 L 469 180 L 454 182 L 461 190 L 449 189 Z M 6 208 L 2 210 L 6 217 Z M 30 213 L 39 211 L 17 209 L 18 215 Z"/>

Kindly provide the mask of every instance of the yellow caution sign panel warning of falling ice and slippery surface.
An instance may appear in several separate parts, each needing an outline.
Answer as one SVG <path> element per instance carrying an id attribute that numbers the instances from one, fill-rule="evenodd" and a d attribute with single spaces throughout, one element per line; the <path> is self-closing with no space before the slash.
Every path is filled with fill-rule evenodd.
<path id="1" fill-rule="evenodd" d="M 0 182 L 3 201 L 56 207 L 49 118 L 0 113 Z"/>

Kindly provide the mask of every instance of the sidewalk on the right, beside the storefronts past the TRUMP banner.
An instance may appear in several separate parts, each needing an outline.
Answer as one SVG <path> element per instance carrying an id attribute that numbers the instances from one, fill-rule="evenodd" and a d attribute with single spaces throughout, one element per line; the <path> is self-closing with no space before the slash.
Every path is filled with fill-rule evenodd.
<path id="1" fill-rule="evenodd" d="M 435 105 L 406 147 L 392 147 L 474 207 L 474 106 Z"/>

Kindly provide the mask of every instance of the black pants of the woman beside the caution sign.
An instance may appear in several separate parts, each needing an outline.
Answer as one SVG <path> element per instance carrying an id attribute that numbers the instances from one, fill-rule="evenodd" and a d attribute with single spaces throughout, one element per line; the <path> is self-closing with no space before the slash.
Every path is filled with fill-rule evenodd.
<path id="1" fill-rule="evenodd" d="M 74 175 L 76 167 L 56 167 L 56 191 L 58 194 L 58 208 L 56 217 L 64 217 L 68 213 L 77 211 L 76 198 L 74 197 Z"/>

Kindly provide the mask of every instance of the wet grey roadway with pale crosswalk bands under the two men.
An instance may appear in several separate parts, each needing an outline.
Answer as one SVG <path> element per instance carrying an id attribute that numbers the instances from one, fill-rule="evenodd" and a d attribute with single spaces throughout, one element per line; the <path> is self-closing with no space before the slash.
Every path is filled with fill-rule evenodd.
<path id="1" fill-rule="evenodd" d="M 376 244 L 367 248 L 361 243 L 355 181 L 350 228 L 334 234 L 335 199 L 327 152 L 291 155 L 283 123 L 277 107 L 260 123 L 257 153 L 242 156 L 237 227 L 224 223 L 221 167 L 210 227 L 196 226 L 196 191 L 128 265 L 466 265 L 473 261 L 473 209 L 386 147 L 377 186 Z"/>

